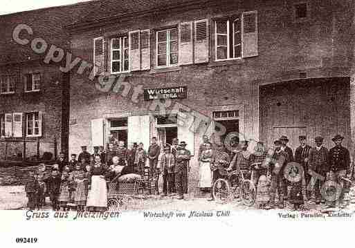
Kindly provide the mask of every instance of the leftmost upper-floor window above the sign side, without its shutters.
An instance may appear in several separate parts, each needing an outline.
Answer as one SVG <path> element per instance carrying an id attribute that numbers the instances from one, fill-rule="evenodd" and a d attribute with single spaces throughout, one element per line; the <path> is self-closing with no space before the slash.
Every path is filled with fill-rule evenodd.
<path id="1" fill-rule="evenodd" d="M 111 73 L 129 71 L 128 36 L 111 39 Z"/>

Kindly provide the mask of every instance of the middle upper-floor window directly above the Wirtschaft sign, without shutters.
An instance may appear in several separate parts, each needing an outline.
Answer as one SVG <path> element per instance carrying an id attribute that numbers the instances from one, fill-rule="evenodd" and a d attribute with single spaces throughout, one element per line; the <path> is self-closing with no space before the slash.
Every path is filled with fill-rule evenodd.
<path id="1" fill-rule="evenodd" d="M 156 65 L 175 66 L 179 61 L 177 28 L 156 31 Z"/>

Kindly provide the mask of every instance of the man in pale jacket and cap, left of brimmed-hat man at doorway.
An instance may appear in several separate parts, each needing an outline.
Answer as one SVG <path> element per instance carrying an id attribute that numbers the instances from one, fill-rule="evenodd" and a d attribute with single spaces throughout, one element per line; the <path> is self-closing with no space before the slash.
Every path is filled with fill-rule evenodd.
<path id="1" fill-rule="evenodd" d="M 157 168 L 163 172 L 163 196 L 172 193 L 172 178 L 174 177 L 175 158 L 170 146 L 164 147 L 164 153 L 159 156 Z"/>

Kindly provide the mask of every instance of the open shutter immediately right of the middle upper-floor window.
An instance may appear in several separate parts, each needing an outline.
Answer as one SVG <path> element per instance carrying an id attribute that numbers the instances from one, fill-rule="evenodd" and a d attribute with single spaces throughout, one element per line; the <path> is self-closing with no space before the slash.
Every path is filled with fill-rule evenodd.
<path id="1" fill-rule="evenodd" d="M 192 21 L 179 24 L 179 64 L 193 64 Z"/>

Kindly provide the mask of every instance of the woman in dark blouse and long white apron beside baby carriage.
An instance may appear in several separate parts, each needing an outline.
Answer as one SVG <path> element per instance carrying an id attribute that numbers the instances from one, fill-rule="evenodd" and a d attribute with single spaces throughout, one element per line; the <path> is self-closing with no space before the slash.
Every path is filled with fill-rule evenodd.
<path id="1" fill-rule="evenodd" d="M 101 163 L 100 155 L 95 155 L 93 166 L 91 167 L 89 180 L 89 195 L 87 207 L 89 211 L 107 210 L 107 184 L 104 175 L 107 169 Z"/>

